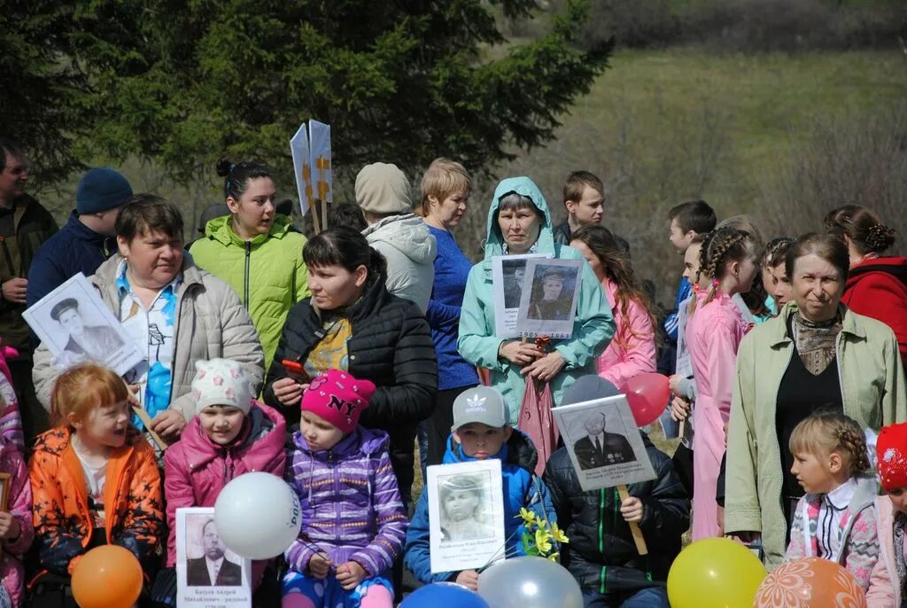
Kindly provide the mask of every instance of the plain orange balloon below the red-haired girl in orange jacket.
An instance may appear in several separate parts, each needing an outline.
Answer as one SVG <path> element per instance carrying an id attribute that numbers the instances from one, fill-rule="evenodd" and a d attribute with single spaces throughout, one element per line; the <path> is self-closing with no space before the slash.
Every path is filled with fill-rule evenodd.
<path id="1" fill-rule="evenodd" d="M 95 547 L 73 570 L 73 597 L 81 608 L 132 608 L 141 593 L 141 564 L 116 544 Z"/>

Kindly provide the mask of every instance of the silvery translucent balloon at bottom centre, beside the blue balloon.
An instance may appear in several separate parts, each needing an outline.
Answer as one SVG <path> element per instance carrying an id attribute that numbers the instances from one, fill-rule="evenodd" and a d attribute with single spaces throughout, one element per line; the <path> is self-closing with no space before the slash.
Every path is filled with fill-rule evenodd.
<path id="1" fill-rule="evenodd" d="M 544 557 L 514 557 L 479 574 L 479 595 L 491 608 L 582 608 L 580 583 Z"/>

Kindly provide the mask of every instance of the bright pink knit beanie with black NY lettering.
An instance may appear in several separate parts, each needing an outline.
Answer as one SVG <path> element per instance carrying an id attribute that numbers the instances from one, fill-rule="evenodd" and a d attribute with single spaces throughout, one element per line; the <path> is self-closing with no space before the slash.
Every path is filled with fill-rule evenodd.
<path id="1" fill-rule="evenodd" d="M 312 380 L 302 394 L 302 410 L 323 418 L 346 435 L 359 424 L 359 417 L 374 394 L 375 385 L 368 380 L 328 369 Z"/>

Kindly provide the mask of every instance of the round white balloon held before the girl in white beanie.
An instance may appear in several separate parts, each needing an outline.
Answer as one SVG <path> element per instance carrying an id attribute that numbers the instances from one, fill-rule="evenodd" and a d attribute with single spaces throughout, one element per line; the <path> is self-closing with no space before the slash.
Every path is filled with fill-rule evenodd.
<path id="1" fill-rule="evenodd" d="M 269 559 L 287 550 L 302 526 L 299 498 L 270 473 L 246 473 L 220 491 L 214 523 L 220 540 L 236 554 Z"/>

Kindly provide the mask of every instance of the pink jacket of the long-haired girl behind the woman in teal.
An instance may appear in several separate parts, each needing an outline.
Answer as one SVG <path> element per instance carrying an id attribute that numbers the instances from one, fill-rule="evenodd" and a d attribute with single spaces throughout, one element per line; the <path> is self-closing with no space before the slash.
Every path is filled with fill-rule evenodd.
<path id="1" fill-rule="evenodd" d="M 629 378 L 655 371 L 655 332 L 649 314 L 638 302 L 630 300 L 626 318 L 620 314 L 615 305 L 618 286 L 614 281 L 601 281 L 601 288 L 614 313 L 617 329 L 614 339 L 598 358 L 599 376 L 620 388 Z"/>

